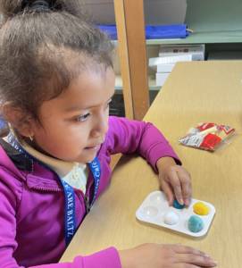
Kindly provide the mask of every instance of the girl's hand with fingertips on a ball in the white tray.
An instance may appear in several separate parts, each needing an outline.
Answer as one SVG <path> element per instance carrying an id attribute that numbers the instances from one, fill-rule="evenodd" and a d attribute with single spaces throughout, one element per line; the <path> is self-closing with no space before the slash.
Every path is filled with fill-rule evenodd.
<path id="1" fill-rule="evenodd" d="M 192 196 L 190 174 L 171 157 L 160 158 L 156 163 L 160 186 L 168 199 L 169 205 L 174 198 L 180 205 L 189 205 Z"/>

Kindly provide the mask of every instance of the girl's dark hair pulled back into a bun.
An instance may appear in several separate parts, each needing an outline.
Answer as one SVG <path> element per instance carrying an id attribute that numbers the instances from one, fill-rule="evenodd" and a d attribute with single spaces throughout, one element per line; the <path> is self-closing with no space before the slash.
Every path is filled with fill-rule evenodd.
<path id="1" fill-rule="evenodd" d="M 44 4 L 43 4 L 44 3 Z M 113 67 L 113 45 L 75 0 L 1 0 L 0 104 L 38 119 L 87 65 Z"/>

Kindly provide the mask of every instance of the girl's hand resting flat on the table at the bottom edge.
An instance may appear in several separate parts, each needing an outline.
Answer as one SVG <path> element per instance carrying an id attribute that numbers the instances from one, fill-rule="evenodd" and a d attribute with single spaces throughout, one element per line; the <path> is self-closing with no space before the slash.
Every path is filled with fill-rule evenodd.
<path id="1" fill-rule="evenodd" d="M 213 259 L 193 247 L 144 244 L 119 252 L 122 268 L 215 267 Z"/>

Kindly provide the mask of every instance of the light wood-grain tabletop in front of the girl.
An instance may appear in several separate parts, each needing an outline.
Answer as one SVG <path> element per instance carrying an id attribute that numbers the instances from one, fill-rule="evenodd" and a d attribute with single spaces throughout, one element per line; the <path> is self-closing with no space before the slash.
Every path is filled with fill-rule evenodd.
<path id="1" fill-rule="evenodd" d="M 155 242 L 198 247 L 221 268 L 241 267 L 242 62 L 177 64 L 145 120 L 163 131 L 191 173 L 193 197 L 215 206 L 207 236 L 193 239 L 138 222 L 138 206 L 158 183 L 145 160 L 124 157 L 113 172 L 110 188 L 96 202 L 61 261 L 112 245 L 122 249 Z M 178 138 L 201 121 L 233 126 L 238 136 L 215 153 L 180 146 Z"/>

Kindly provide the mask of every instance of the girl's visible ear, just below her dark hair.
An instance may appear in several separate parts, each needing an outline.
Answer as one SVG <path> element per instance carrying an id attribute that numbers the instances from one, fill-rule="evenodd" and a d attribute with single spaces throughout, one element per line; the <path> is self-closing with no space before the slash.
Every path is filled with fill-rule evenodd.
<path id="1" fill-rule="evenodd" d="M 24 113 L 21 108 L 11 103 L 5 103 L 2 107 L 4 118 L 8 121 L 14 130 L 17 130 L 21 136 L 33 136 L 32 117 Z"/>

